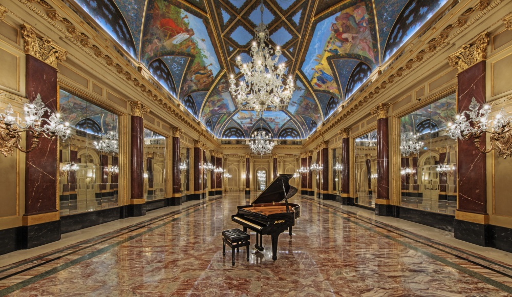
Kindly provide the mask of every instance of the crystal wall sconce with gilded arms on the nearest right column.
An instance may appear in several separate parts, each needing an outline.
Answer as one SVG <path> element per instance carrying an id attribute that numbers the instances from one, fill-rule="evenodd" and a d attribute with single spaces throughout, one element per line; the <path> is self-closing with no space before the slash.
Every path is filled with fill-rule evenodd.
<path id="1" fill-rule="evenodd" d="M 486 154 L 496 149 L 498 156 L 503 159 L 512 155 L 512 117 L 507 116 L 505 110 L 489 119 L 490 105 L 484 104 L 480 109 L 475 97 L 471 99 L 470 111 L 463 111 L 456 117 L 454 123 L 448 123 L 448 136 L 453 139 L 469 140 L 473 137 L 476 148 Z M 480 109 L 480 110 L 479 110 Z M 483 133 L 490 133 L 490 146 L 486 150 L 480 147 L 480 137 Z"/>

